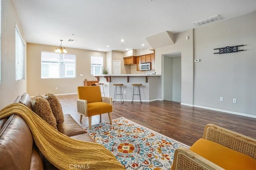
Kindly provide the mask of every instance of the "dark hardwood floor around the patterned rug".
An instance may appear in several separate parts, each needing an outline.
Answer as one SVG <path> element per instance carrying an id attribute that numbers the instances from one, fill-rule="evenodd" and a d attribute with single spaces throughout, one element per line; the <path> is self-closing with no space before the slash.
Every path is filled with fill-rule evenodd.
<path id="1" fill-rule="evenodd" d="M 70 114 L 82 126 L 88 126 L 88 117 L 77 113 L 77 95 L 57 96 L 64 114 Z M 144 127 L 166 135 L 172 139 L 191 146 L 203 137 L 204 126 L 213 123 L 226 129 L 236 131 L 256 139 L 256 119 L 219 111 L 212 111 L 197 107 L 183 106 L 168 101 L 143 102 L 115 102 L 113 104 L 112 119 L 125 117 Z M 92 117 L 92 125 L 108 121 L 108 114 Z"/>

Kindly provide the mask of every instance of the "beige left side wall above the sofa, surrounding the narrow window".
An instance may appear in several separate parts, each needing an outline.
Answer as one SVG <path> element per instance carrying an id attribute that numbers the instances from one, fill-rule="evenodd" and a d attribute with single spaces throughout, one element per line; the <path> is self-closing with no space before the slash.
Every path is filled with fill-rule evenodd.
<path id="1" fill-rule="evenodd" d="M 18 25 L 25 44 L 22 27 L 14 9 L 12 0 L 2 0 L 1 16 L 1 84 L 0 84 L 0 109 L 14 102 L 18 95 L 26 92 L 26 71 L 25 80 L 15 79 L 15 24 Z M 26 68 L 26 59 L 25 59 Z M 26 69 L 25 69 L 26 70 Z"/>

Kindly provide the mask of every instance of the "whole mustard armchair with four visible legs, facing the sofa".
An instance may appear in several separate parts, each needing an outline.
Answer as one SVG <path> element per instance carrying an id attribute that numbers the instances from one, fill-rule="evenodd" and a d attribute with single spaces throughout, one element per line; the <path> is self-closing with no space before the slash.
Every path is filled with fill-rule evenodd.
<path id="1" fill-rule="evenodd" d="M 80 86 L 77 92 L 77 111 L 81 114 L 80 121 L 83 115 L 88 117 L 89 129 L 91 129 L 92 116 L 108 113 L 110 124 L 112 124 L 110 113 L 112 112 L 112 98 L 102 97 L 100 86 Z"/>

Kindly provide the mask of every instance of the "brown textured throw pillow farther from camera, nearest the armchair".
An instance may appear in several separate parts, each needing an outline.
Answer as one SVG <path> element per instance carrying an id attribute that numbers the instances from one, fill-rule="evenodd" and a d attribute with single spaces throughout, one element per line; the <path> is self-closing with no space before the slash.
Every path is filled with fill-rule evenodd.
<path id="1" fill-rule="evenodd" d="M 60 104 L 58 98 L 54 94 L 51 94 L 51 93 L 46 93 L 44 98 L 49 102 L 50 107 L 52 109 L 52 113 L 53 113 L 54 117 L 56 118 L 56 122 L 60 123 L 60 122 L 64 121 L 62 107 L 61 107 L 61 104 Z"/>

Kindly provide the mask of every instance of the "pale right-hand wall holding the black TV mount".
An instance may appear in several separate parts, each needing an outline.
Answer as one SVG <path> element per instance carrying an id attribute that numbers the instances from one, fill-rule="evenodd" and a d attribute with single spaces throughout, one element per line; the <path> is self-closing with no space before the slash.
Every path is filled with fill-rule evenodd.
<path id="1" fill-rule="evenodd" d="M 196 28 L 194 37 L 201 60 L 195 63 L 194 105 L 256 116 L 256 12 Z M 213 54 L 233 45 L 246 45 L 239 47 L 246 51 Z"/>

